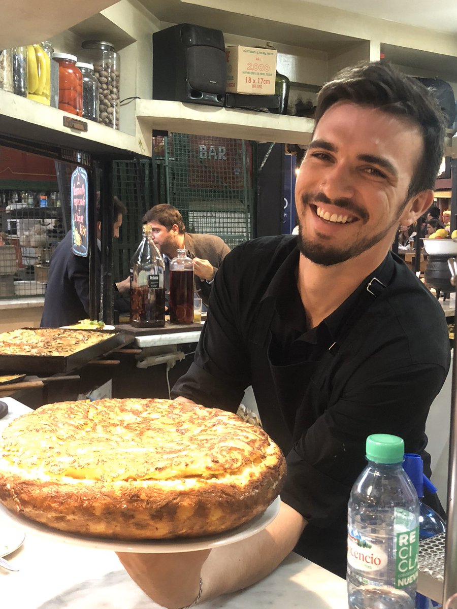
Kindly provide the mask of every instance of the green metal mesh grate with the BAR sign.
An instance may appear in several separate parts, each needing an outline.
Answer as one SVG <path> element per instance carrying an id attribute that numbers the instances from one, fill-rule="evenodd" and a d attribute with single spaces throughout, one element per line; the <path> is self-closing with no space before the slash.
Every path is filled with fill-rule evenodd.
<path id="1" fill-rule="evenodd" d="M 229 247 L 253 236 L 249 141 L 183 133 L 155 137 L 151 160 L 115 163 L 113 191 L 128 210 L 113 243 L 116 281 L 129 274 L 141 217 L 155 203 L 178 208 L 189 233 L 216 234 Z"/>

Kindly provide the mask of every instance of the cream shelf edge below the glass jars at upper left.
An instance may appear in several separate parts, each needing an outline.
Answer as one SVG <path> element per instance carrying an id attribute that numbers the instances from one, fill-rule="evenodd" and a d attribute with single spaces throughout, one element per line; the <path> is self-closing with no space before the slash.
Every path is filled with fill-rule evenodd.
<path id="1" fill-rule="evenodd" d="M 112 158 L 144 154 L 133 135 L 85 119 L 79 120 L 87 123 L 87 132 L 64 127 L 64 116 L 78 117 L 7 91 L 0 90 L 0 111 L 0 133 L 7 137 Z"/>

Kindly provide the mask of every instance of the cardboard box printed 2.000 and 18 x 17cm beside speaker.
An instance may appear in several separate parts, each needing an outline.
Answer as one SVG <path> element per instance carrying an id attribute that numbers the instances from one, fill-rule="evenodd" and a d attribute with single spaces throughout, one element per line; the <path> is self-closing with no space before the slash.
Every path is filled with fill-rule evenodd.
<path id="1" fill-rule="evenodd" d="M 252 46 L 228 46 L 227 93 L 272 95 L 275 92 L 276 51 Z"/>

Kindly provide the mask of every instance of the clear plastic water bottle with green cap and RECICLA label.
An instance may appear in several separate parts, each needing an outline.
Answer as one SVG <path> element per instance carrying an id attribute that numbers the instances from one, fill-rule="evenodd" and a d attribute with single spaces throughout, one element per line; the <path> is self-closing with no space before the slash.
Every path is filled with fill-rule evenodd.
<path id="1" fill-rule="evenodd" d="M 404 443 L 370 435 L 368 465 L 348 505 L 347 593 L 350 609 L 414 609 L 419 499 L 403 470 Z"/>

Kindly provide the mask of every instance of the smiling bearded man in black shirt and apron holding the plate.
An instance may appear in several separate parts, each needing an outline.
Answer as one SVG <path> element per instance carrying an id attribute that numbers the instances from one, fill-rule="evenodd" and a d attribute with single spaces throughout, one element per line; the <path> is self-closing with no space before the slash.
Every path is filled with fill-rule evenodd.
<path id="1" fill-rule="evenodd" d="M 387 62 L 339 72 L 315 116 L 296 181 L 299 235 L 226 256 L 194 362 L 171 392 L 236 412 L 252 385 L 288 464 L 281 509 L 211 551 L 119 553 L 165 607 L 245 588 L 292 549 L 344 577 L 347 501 L 370 434 L 402 437 L 430 476 L 425 421 L 448 373 L 447 325 L 391 244 L 433 201 L 444 119 L 433 93 Z M 440 510 L 436 496 L 425 502 Z"/>

